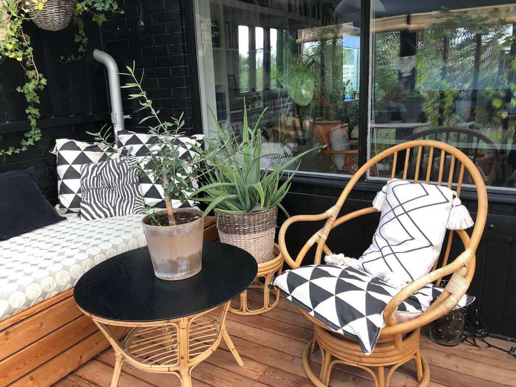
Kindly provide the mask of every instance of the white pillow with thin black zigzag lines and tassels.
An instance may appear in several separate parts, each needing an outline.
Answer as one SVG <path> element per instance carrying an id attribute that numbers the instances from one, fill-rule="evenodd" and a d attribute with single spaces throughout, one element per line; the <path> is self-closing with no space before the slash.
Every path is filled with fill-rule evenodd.
<path id="1" fill-rule="evenodd" d="M 452 208 L 469 218 L 459 224 L 473 224 L 454 191 L 432 184 L 389 180 L 373 205 L 381 209 L 373 243 L 352 266 L 397 286 L 430 272 L 452 223 Z"/>

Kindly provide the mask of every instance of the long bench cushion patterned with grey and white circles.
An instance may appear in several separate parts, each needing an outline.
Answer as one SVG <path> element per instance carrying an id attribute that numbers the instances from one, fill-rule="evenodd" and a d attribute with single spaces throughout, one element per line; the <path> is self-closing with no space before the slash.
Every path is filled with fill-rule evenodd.
<path id="1" fill-rule="evenodd" d="M 68 220 L 0 241 L 0 320 L 65 292 L 88 269 L 147 245 L 141 215 Z"/>

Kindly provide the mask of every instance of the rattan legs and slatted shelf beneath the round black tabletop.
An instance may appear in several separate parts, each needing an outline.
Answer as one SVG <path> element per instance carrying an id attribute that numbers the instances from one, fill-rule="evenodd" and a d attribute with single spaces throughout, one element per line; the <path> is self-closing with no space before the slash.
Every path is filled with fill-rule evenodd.
<path id="1" fill-rule="evenodd" d="M 124 361 L 144 371 L 174 374 L 183 387 L 191 387 L 192 369 L 217 349 L 222 338 L 243 367 L 244 362 L 225 329 L 228 309 L 229 302 L 199 314 L 145 323 L 105 320 L 88 314 L 115 350 L 111 387 L 117 387 Z M 118 340 L 110 326 L 132 329 L 123 340 Z"/>

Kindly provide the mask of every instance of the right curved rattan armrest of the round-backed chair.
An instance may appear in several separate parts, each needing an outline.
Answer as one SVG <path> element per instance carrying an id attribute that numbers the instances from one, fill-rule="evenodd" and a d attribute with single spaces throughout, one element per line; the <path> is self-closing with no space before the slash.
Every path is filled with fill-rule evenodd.
<path id="1" fill-rule="evenodd" d="M 427 275 L 418 278 L 401 289 L 383 310 L 383 319 L 385 320 L 386 327 L 382 330 L 380 336 L 392 336 L 395 334 L 410 332 L 416 328 L 429 324 L 429 322 L 440 318 L 451 311 L 451 309 L 457 305 L 461 297 L 466 293 L 469 281 L 465 281 L 464 277 L 468 271 L 467 265 L 472 261 L 473 257 L 474 252 L 470 249 L 466 249 L 450 264 L 429 272 Z M 450 283 L 453 281 L 454 284 L 451 286 L 447 285 L 441 296 L 434 301 L 432 305 L 430 305 L 430 308 L 413 320 L 406 321 L 401 324 L 396 323 L 393 313 L 403 301 L 424 286 L 452 273 L 454 273 L 454 276 L 452 277 L 452 280 L 450 280 Z"/>

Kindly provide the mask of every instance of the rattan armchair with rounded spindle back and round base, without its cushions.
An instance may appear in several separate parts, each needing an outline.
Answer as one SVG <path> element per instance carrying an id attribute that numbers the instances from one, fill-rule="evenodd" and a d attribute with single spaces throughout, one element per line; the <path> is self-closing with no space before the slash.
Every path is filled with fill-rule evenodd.
<path id="1" fill-rule="evenodd" d="M 408 166 L 410 155 L 413 156 L 417 163 L 417 168 L 413 176 L 408 176 Z M 451 157 L 445 157 L 451 155 Z M 430 381 L 430 370 L 425 357 L 420 351 L 420 331 L 421 327 L 429 322 L 436 320 L 446 315 L 458 303 L 460 298 L 465 294 L 473 278 L 475 271 L 475 251 L 482 236 L 484 225 L 487 217 L 487 192 L 485 184 L 482 180 L 477 167 L 472 162 L 470 157 L 458 149 L 449 146 L 444 142 L 431 140 L 415 140 L 408 141 L 396 145 L 370 159 L 362 168 L 353 175 L 352 179 L 347 183 L 337 203 L 328 209 L 325 213 L 319 215 L 298 215 L 287 219 L 279 233 L 279 246 L 283 254 L 285 262 L 292 267 L 297 268 L 301 265 L 307 252 L 316 245 L 315 263 L 321 262 L 322 253 L 331 254 L 332 251 L 326 245 L 328 235 L 331 230 L 344 222 L 350 221 L 361 215 L 372 214 L 376 212 L 373 207 L 359 209 L 358 211 L 339 216 L 342 206 L 348 197 L 351 189 L 360 180 L 360 178 L 370 168 L 375 168 L 377 163 L 382 160 L 392 157 L 392 174 L 395 176 L 396 165 L 404 165 L 402 178 L 404 180 L 430 181 L 431 170 L 428 168 L 426 173 L 420 176 L 419 165 L 422 157 L 428 157 L 430 162 L 433 157 L 440 157 L 440 171 L 438 174 L 437 184 L 443 184 L 443 170 L 445 162 L 449 162 L 447 170 L 448 176 L 444 176 L 444 181 L 447 180 L 447 186 L 457 191 L 460 195 L 462 181 L 465 171 L 469 172 L 474 181 L 477 198 L 478 209 L 476 221 L 469 236 L 463 230 L 450 231 L 444 243 L 444 255 L 438 262 L 441 263 L 438 268 L 438 262 L 427 275 L 415 280 L 407 287 L 403 288 L 385 307 L 383 311 L 383 318 L 385 320 L 385 327 L 382 329 L 379 340 L 373 352 L 369 356 L 365 356 L 357 341 L 337 334 L 330 330 L 325 324 L 318 321 L 307 312 L 302 313 L 311 322 L 313 322 L 314 338 L 308 343 L 303 353 L 303 368 L 310 378 L 312 383 L 317 387 L 327 386 L 330 379 L 332 368 L 336 364 L 346 364 L 354 367 L 359 367 L 369 373 L 376 387 L 387 387 L 394 371 L 409 361 L 415 361 L 416 378 L 420 382 L 420 386 L 427 386 Z M 455 169 L 459 170 L 456 182 L 453 182 Z M 425 176 L 426 175 L 426 176 Z M 317 231 L 302 247 L 296 259 L 293 259 L 288 252 L 285 244 L 285 234 L 288 227 L 300 221 L 321 221 L 326 220 L 324 227 Z M 464 251 L 456 257 L 455 260 L 449 259 L 451 242 L 455 234 L 458 234 L 460 240 L 464 245 Z M 344 247 L 342 247 L 344 248 Z M 450 276 L 449 281 L 445 287 L 445 291 L 441 296 L 434 301 L 428 310 L 423 312 L 417 318 L 397 324 L 393 312 L 396 310 L 402 301 L 407 299 L 414 292 L 418 291 L 427 284 L 439 284 L 443 277 Z M 316 347 L 321 350 L 322 365 L 318 376 L 316 376 L 310 365 L 310 355 L 314 352 Z M 389 372 L 386 372 L 385 367 L 390 367 Z M 376 372 L 375 372 L 376 370 Z"/>

